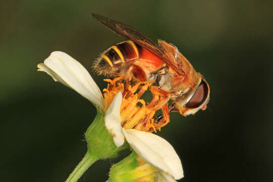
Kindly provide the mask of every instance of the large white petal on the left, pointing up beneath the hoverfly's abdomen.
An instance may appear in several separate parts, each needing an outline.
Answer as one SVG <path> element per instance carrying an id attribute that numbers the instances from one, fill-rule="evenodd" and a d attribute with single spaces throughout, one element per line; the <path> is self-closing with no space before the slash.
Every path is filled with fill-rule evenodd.
<path id="1" fill-rule="evenodd" d="M 103 97 L 100 88 L 88 71 L 68 54 L 56 51 L 38 64 L 39 71 L 47 72 L 55 81 L 76 90 L 80 95 L 103 109 Z"/>

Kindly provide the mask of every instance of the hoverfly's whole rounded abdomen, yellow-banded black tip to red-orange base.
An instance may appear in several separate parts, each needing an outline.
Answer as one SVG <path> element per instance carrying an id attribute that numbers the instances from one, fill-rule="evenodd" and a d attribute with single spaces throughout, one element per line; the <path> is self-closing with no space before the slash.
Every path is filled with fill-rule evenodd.
<path id="1" fill-rule="evenodd" d="M 129 67 L 141 69 L 147 76 L 162 67 L 163 62 L 151 52 L 131 40 L 112 45 L 94 63 L 99 74 L 124 76 Z"/>

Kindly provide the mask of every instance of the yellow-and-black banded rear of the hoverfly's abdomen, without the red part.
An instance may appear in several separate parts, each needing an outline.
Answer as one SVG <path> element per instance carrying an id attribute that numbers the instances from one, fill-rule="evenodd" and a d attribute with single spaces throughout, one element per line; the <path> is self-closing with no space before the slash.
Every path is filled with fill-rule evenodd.
<path id="1" fill-rule="evenodd" d="M 94 69 L 104 74 L 119 73 L 126 61 L 139 59 L 140 49 L 141 47 L 131 40 L 112 45 L 97 59 Z"/>

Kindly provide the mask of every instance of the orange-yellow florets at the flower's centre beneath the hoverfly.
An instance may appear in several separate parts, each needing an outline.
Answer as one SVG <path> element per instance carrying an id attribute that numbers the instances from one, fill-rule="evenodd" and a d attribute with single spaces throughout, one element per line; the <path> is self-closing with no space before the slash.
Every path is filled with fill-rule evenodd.
<path id="1" fill-rule="evenodd" d="M 147 88 L 145 82 L 139 82 L 135 85 L 129 85 L 128 90 L 124 93 L 123 77 L 114 79 L 104 79 L 108 82 L 107 88 L 103 89 L 105 99 L 105 111 L 110 106 L 115 95 L 118 92 L 123 93 L 122 104 L 120 108 L 121 126 L 125 129 L 137 129 L 147 132 L 156 132 L 163 125 L 154 123 L 154 115 L 158 110 L 157 107 L 150 107 L 143 99 L 140 99 L 143 94 L 141 88 Z"/>

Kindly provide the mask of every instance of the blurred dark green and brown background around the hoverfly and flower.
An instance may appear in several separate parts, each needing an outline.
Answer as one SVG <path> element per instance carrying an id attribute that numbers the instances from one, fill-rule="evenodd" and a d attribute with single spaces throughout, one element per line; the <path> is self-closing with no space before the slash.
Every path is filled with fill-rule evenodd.
<path id="1" fill-rule="evenodd" d="M 103 89 L 104 77 L 90 66 L 123 39 L 94 12 L 175 44 L 209 82 L 207 110 L 171 114 L 157 133 L 181 158 L 179 181 L 272 181 L 272 7 L 251 0 L 1 1 L 1 180 L 65 181 L 84 156 L 95 107 L 36 65 L 63 51 Z M 107 180 L 117 161 L 98 161 L 79 181 Z"/>

